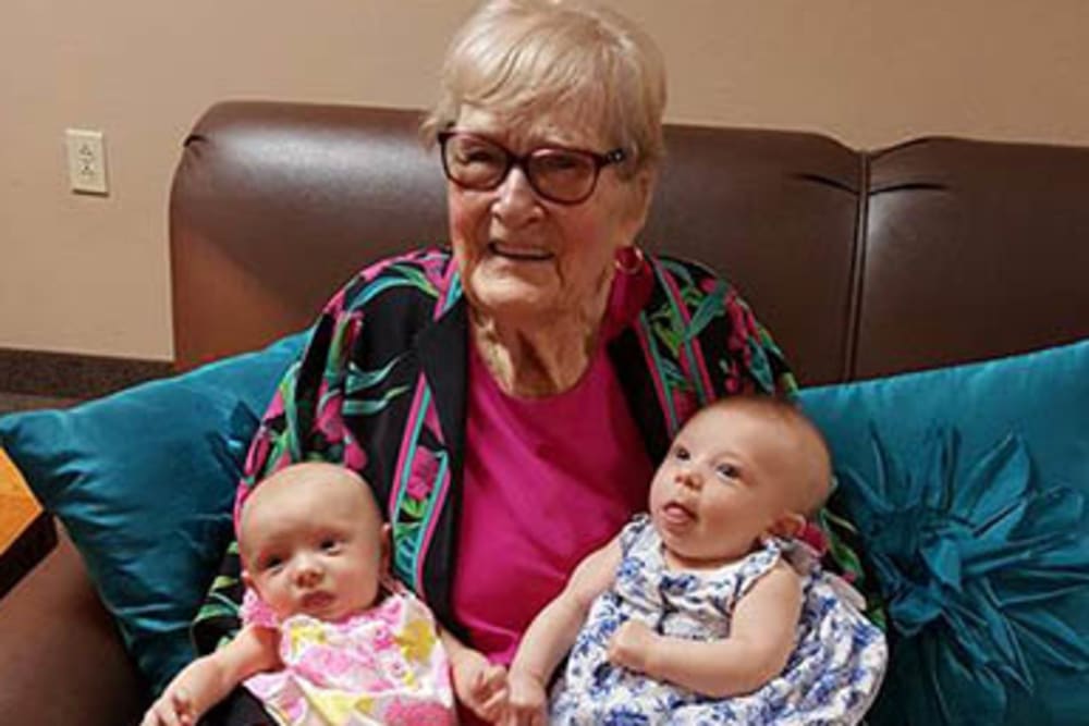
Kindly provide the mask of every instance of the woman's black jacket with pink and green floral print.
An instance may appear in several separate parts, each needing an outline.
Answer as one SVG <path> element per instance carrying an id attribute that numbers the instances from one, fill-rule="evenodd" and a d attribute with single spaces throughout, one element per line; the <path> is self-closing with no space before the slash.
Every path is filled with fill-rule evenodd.
<path id="1" fill-rule="evenodd" d="M 638 309 L 608 353 L 652 460 L 701 405 L 741 392 L 791 395 L 774 342 L 729 283 L 703 267 L 646 256 Z M 374 487 L 393 529 L 395 576 L 450 612 L 465 453 L 466 302 L 448 248 L 380 261 L 326 306 L 252 444 L 240 485 L 287 464 L 344 464 Z M 237 506 L 237 505 L 236 505 Z M 232 544 L 194 635 L 215 649 L 238 626 Z"/>

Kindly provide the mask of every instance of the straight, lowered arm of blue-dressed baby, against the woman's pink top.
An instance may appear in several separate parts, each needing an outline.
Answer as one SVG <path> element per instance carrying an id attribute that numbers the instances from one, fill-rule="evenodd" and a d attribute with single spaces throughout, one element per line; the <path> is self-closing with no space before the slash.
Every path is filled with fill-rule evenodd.
<path id="1" fill-rule="evenodd" d="M 572 573 L 563 592 L 534 618 L 511 664 L 505 724 L 547 723 L 546 685 L 574 645 L 595 598 L 612 586 L 622 556 L 619 539 L 588 555 Z"/>

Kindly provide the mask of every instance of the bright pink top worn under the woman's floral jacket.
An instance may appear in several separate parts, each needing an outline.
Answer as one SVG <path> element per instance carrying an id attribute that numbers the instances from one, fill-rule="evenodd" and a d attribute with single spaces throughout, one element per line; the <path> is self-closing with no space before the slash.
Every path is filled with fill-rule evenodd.
<path id="1" fill-rule="evenodd" d="M 616 275 L 605 337 L 638 312 L 645 291 L 644 275 Z M 653 465 L 603 343 L 578 384 L 548 398 L 505 394 L 469 347 L 452 605 L 470 644 L 510 665 L 578 562 L 646 508 Z"/>

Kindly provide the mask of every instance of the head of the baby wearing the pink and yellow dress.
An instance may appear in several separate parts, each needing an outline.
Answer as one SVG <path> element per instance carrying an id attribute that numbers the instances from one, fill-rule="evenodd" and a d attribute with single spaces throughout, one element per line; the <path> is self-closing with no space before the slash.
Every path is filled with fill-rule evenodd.
<path id="1" fill-rule="evenodd" d="M 339 620 L 378 596 L 389 528 L 370 487 L 332 464 L 285 467 L 242 504 L 242 577 L 281 618 Z"/>

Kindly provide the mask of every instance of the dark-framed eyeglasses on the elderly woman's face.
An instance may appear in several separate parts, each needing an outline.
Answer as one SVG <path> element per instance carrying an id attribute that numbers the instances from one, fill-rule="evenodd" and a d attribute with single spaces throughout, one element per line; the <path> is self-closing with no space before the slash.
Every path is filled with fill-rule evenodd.
<path id="1" fill-rule="evenodd" d="M 456 130 L 440 132 L 439 146 L 446 179 L 458 186 L 477 192 L 494 189 L 511 168 L 517 167 L 534 192 L 561 205 L 589 199 L 601 170 L 627 158 L 620 148 L 597 153 L 561 146 L 542 146 L 519 157 L 490 138 Z"/>

